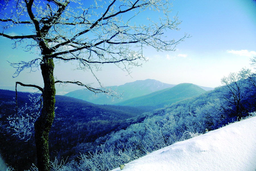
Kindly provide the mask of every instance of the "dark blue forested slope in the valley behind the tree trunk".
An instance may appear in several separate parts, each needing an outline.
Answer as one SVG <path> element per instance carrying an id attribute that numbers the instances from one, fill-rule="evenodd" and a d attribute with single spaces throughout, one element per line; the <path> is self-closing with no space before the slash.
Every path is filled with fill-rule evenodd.
<path id="1" fill-rule="evenodd" d="M 18 107 L 31 104 L 30 93 L 18 92 Z M 34 135 L 27 142 L 12 135 L 7 121 L 15 114 L 15 91 L 0 89 L 1 155 L 5 162 L 18 170 L 36 163 Z M 78 154 L 70 149 L 77 143 L 92 142 L 111 131 L 125 129 L 143 120 L 146 109 L 128 106 L 96 105 L 72 97 L 56 96 L 55 119 L 49 135 L 51 159 L 73 159 Z M 17 155 L 19 154 L 19 155 Z M 20 163 L 16 165 L 15 163 Z"/>

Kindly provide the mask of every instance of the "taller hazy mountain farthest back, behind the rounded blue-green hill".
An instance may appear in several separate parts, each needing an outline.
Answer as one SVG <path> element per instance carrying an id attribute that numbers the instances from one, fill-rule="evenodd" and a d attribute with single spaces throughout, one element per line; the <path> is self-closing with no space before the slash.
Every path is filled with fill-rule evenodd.
<path id="1" fill-rule="evenodd" d="M 80 89 L 76 91 L 71 91 L 65 96 L 74 97 L 77 99 L 92 102 L 94 104 L 116 104 L 134 97 L 139 97 L 143 95 L 150 94 L 155 91 L 162 89 L 174 87 L 174 84 L 166 84 L 157 80 L 147 79 L 147 80 L 137 80 L 135 82 L 125 83 L 120 86 L 110 86 L 106 88 L 111 88 L 117 92 L 123 93 L 122 99 L 115 99 L 112 102 L 112 98 L 108 98 L 104 93 L 98 93 L 97 97 L 92 91 L 86 91 L 85 89 Z"/>

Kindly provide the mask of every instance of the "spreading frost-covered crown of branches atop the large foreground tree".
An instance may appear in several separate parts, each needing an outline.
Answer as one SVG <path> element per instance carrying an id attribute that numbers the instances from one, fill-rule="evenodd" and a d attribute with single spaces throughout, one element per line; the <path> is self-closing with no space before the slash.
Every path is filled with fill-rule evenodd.
<path id="1" fill-rule="evenodd" d="M 38 69 L 44 57 L 75 61 L 77 69 L 83 70 L 97 70 L 104 64 L 114 63 L 130 74 L 131 68 L 141 65 L 138 60 L 146 61 L 143 56 L 146 46 L 157 51 L 174 51 L 179 42 L 189 37 L 186 33 L 177 40 L 166 37 L 167 32 L 179 30 L 181 23 L 177 15 L 170 17 L 169 1 L 113 0 L 95 4 L 83 4 L 79 0 L 5 1 L 0 36 L 13 39 L 15 47 L 16 43 L 24 43 L 23 39 L 30 39 L 25 49 L 32 53 L 35 47 L 41 50 L 37 59 L 11 63 L 16 68 L 15 76 L 26 68 Z M 142 12 L 156 12 L 161 16 L 140 16 L 142 22 L 138 22 L 135 17 Z M 5 32 L 13 27 L 28 29 L 17 36 Z"/>

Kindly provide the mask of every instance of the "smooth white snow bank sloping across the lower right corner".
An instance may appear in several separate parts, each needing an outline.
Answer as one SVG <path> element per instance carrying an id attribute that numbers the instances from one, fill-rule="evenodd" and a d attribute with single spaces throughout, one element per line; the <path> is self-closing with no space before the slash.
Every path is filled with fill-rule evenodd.
<path id="1" fill-rule="evenodd" d="M 255 171 L 256 117 L 176 142 L 125 164 L 122 171 L 139 170 Z"/>

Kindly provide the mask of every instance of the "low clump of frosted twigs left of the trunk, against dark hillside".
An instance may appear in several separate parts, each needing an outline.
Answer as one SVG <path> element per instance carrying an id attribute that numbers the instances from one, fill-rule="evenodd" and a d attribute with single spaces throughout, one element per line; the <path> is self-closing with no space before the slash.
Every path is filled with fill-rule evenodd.
<path id="1" fill-rule="evenodd" d="M 29 95 L 29 98 L 31 105 L 26 103 L 21 108 L 16 106 L 16 114 L 7 118 L 10 123 L 8 128 L 13 129 L 13 135 L 25 141 L 28 141 L 34 132 L 34 122 L 39 117 L 43 105 L 41 96 Z"/>

